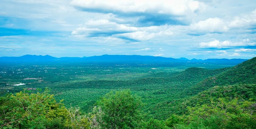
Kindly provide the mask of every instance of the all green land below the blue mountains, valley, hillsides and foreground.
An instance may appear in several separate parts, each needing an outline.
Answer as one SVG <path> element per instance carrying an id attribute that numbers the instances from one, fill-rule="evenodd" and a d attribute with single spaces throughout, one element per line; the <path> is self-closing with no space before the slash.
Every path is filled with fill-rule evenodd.
<path id="1" fill-rule="evenodd" d="M 232 67 L 2 64 L 0 125 L 49 129 L 254 129 L 255 73 L 255 57 Z M 26 85 L 13 86 L 18 83 Z"/>

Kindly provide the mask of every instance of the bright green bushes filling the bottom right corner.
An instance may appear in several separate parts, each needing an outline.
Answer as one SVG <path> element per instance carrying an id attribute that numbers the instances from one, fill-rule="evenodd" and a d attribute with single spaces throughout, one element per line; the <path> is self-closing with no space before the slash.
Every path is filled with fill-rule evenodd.
<path id="1" fill-rule="evenodd" d="M 256 128 L 256 103 L 250 101 L 238 102 L 234 99 L 225 102 L 223 98 L 219 102 L 204 104 L 198 107 L 188 107 L 189 115 L 185 124 L 176 124 L 177 129 L 236 129 Z"/>

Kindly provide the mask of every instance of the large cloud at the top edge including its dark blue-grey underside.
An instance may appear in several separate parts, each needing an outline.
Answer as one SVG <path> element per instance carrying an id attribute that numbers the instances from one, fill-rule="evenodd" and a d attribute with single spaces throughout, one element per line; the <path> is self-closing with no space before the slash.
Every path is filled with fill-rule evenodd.
<path id="1" fill-rule="evenodd" d="M 187 25 L 185 16 L 196 15 L 205 4 L 195 0 L 73 0 L 77 10 L 113 14 L 119 18 L 136 19 L 136 26 Z"/>

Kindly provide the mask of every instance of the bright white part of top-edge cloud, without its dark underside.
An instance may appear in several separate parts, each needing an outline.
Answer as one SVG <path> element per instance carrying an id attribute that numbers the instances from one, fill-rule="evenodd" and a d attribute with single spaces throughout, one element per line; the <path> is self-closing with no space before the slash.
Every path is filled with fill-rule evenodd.
<path id="1" fill-rule="evenodd" d="M 202 8 L 202 2 L 194 0 L 73 0 L 71 4 L 85 11 L 102 13 L 158 13 L 185 15 Z"/>

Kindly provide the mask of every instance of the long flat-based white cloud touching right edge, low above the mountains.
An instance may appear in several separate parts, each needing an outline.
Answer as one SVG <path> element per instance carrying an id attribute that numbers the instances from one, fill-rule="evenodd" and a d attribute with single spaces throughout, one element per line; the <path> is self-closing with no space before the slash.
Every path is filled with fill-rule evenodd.
<path id="1" fill-rule="evenodd" d="M 247 40 L 246 40 L 247 41 Z M 219 40 L 214 40 L 211 42 L 201 42 L 198 44 L 199 48 L 226 48 L 226 47 L 234 47 L 234 46 L 255 46 L 256 42 L 231 42 L 229 40 L 225 40 L 220 42 Z"/>

